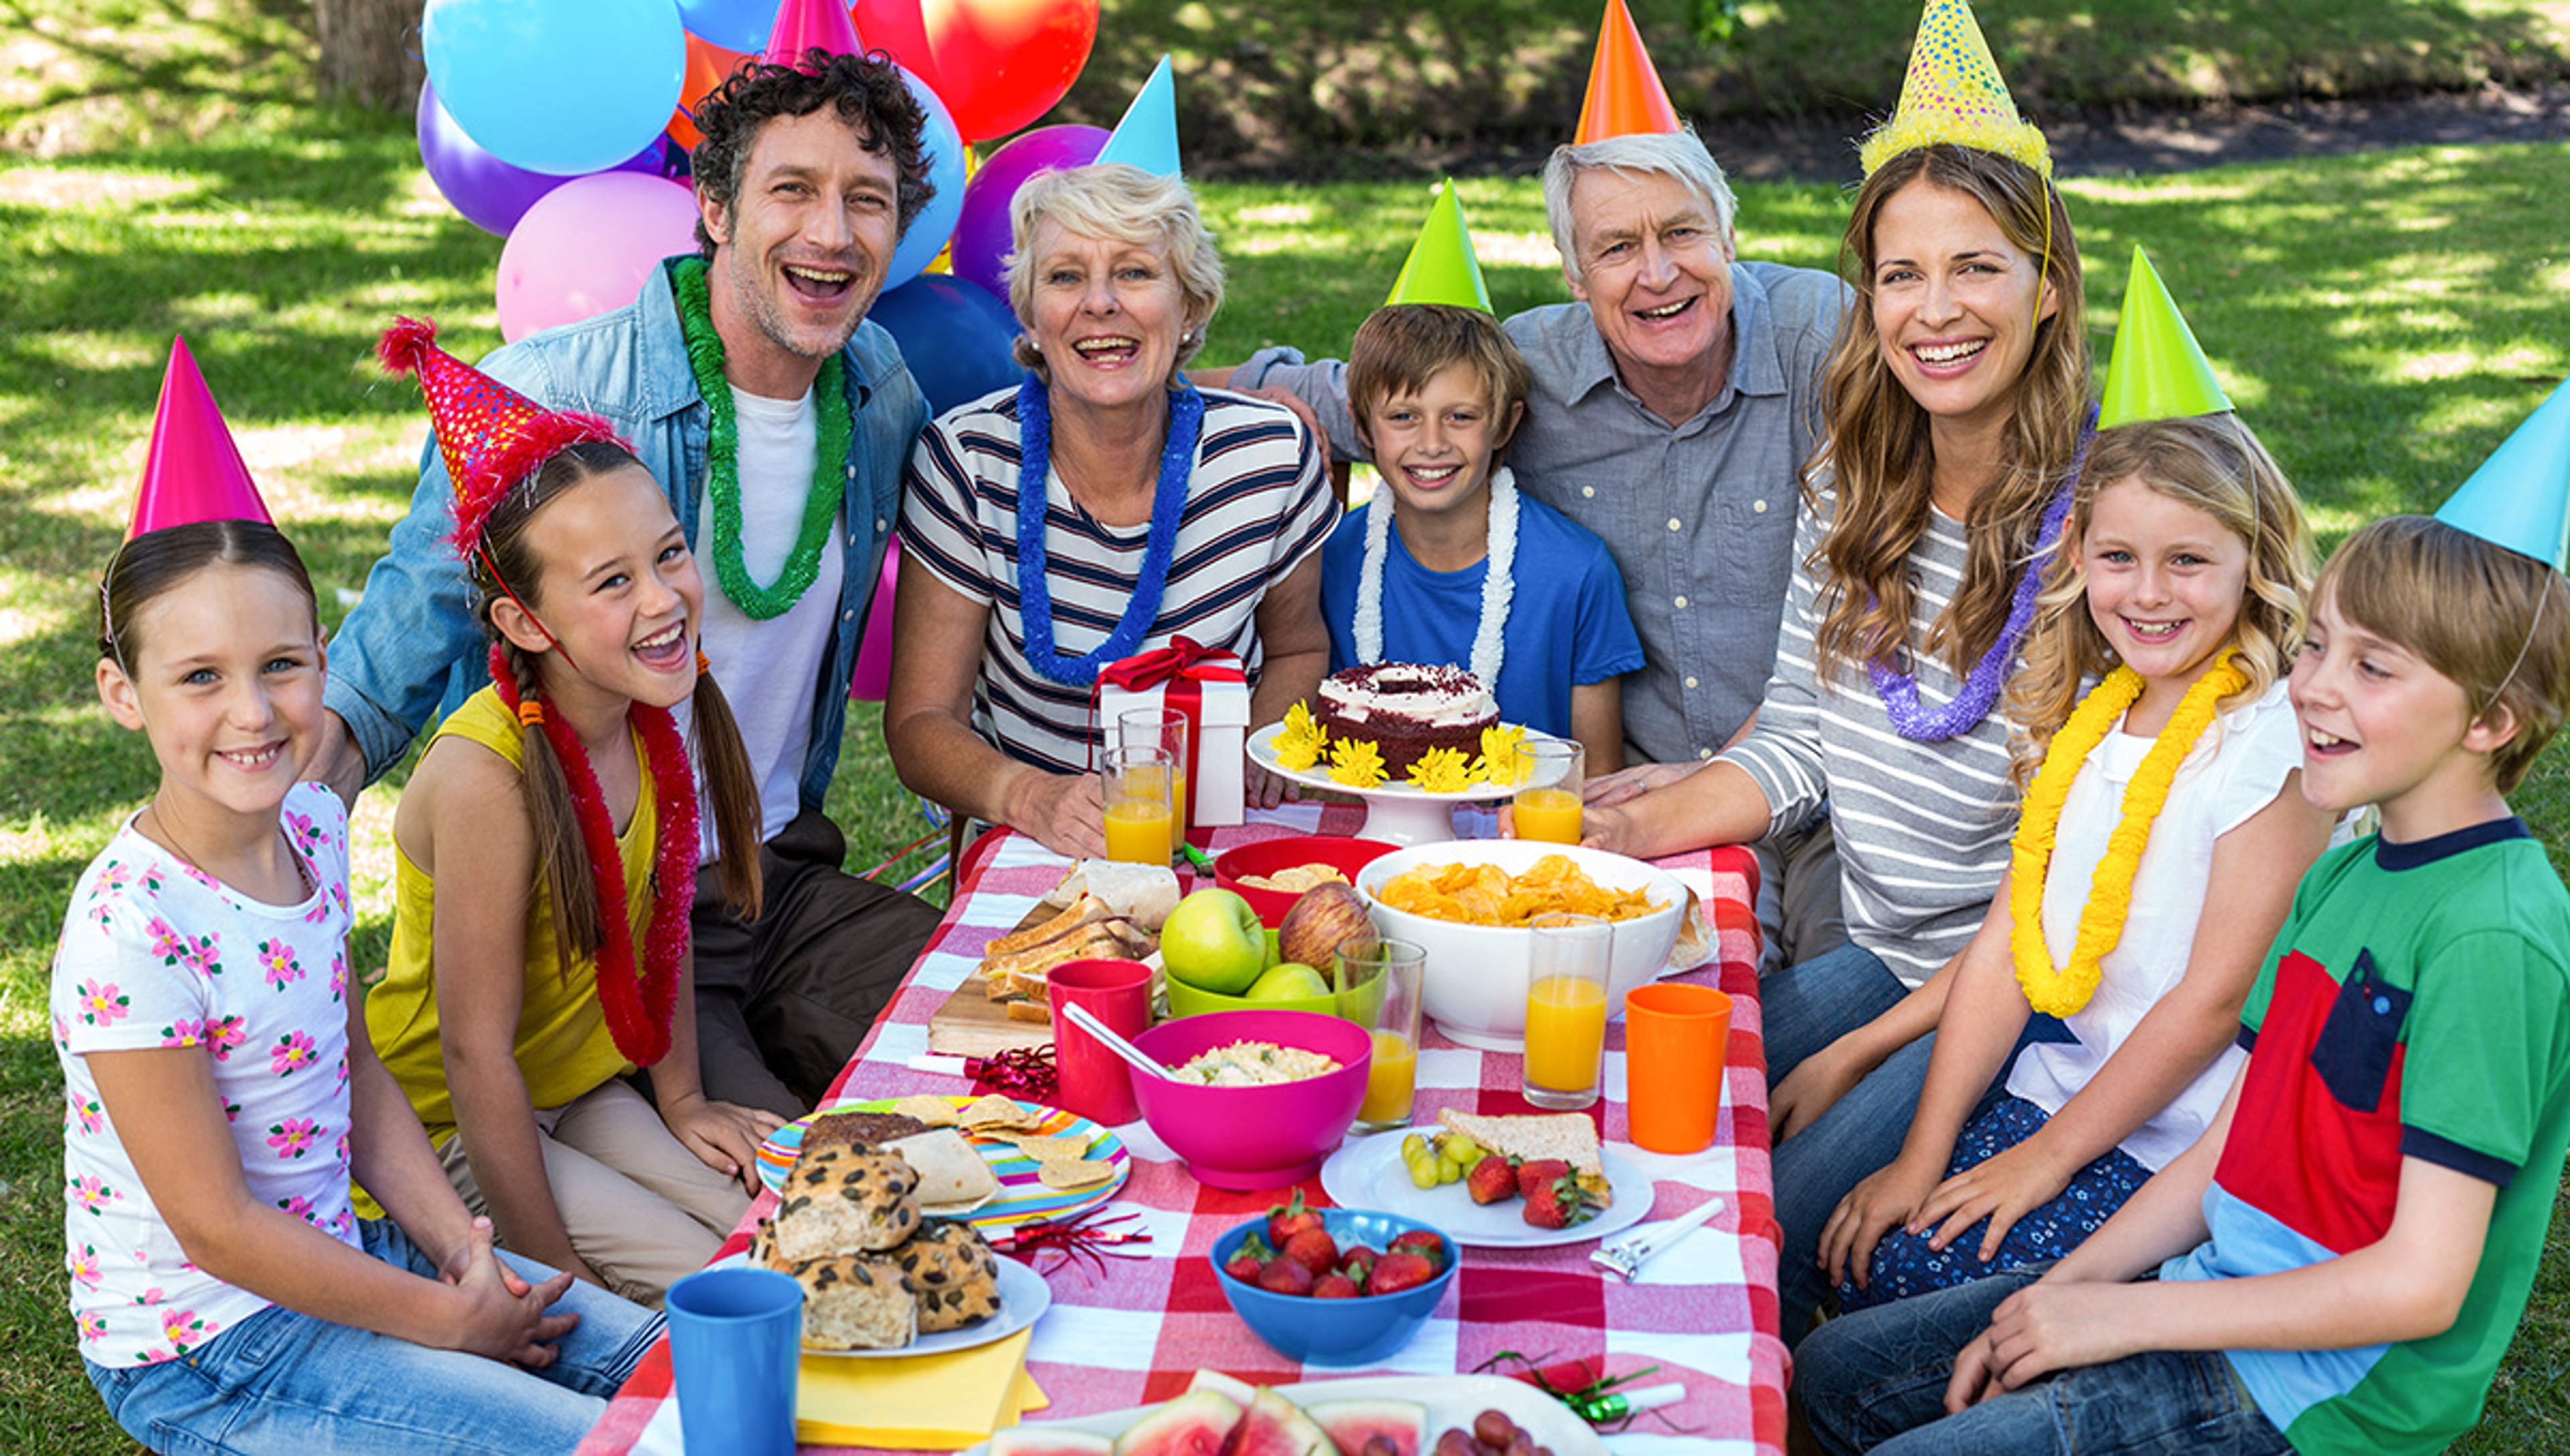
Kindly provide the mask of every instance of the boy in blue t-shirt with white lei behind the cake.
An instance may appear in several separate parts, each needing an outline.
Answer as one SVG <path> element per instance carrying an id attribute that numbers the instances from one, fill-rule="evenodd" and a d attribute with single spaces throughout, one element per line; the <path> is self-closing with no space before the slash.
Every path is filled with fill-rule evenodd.
<path id="1" fill-rule="evenodd" d="M 1606 542 L 1498 465 L 1527 383 L 1480 308 L 1393 303 L 1357 329 L 1347 403 L 1385 490 L 1321 547 L 1329 668 L 1467 668 L 1501 722 L 1581 740 L 1593 778 L 1624 765 L 1617 678 L 1642 639 Z"/>

